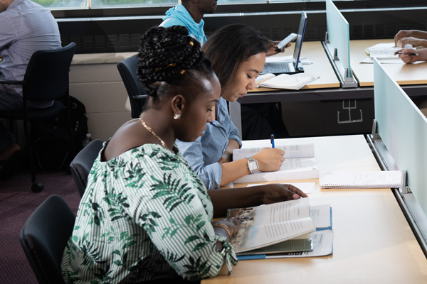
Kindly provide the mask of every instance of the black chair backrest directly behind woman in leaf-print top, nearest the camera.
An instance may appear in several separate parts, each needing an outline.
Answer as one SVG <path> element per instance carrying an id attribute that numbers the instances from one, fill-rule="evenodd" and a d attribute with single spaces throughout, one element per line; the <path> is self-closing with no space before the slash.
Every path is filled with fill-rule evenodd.
<path id="1" fill-rule="evenodd" d="M 60 263 L 74 222 L 67 202 L 51 195 L 23 225 L 19 239 L 38 283 L 64 283 Z"/>

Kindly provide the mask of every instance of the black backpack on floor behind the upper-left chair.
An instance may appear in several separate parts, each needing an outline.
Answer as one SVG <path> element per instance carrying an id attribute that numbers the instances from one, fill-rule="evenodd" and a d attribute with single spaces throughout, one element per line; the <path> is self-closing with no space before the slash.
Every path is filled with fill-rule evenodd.
<path id="1" fill-rule="evenodd" d="M 68 169 L 71 160 L 83 148 L 82 141 L 88 133 L 86 108 L 75 97 L 69 96 L 69 98 L 70 120 L 73 129 L 73 153 L 70 153 L 71 139 L 68 135 L 65 108 L 52 119 L 40 119 L 31 124 L 34 158 L 36 165 L 41 170 Z"/>

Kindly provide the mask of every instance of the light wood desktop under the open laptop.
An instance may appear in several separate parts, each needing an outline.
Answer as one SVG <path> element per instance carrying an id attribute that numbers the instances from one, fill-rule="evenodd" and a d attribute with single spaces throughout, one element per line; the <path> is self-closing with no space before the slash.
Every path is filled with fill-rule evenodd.
<path id="1" fill-rule="evenodd" d="M 274 56 L 292 55 L 294 44 L 287 48 L 285 53 L 280 53 Z M 305 85 L 301 89 L 322 89 L 322 88 L 339 88 L 339 80 L 335 75 L 334 69 L 331 66 L 330 60 L 323 49 L 320 41 L 307 41 L 302 44 L 301 57 L 308 58 L 312 64 L 303 65 L 304 72 L 312 75 L 320 75 L 320 78 Z M 276 91 L 277 89 L 256 88 L 253 92 Z"/>

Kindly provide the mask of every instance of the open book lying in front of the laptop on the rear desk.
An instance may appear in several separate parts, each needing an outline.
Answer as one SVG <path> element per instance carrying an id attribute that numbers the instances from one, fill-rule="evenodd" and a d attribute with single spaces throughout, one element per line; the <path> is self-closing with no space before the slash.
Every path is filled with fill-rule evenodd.
<path id="1" fill-rule="evenodd" d="M 297 74 L 280 74 L 274 75 L 272 73 L 267 73 L 258 76 L 260 77 L 256 83 L 256 87 L 265 87 L 272 89 L 301 89 L 306 84 L 320 78 L 317 75 L 309 75 L 307 73 L 297 73 Z"/>

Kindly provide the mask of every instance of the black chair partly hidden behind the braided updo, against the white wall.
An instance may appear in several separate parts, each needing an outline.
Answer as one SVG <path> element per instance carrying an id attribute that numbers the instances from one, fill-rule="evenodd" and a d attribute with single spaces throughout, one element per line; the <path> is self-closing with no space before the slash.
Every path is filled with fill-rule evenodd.
<path id="1" fill-rule="evenodd" d="M 141 82 L 138 80 L 137 67 L 137 54 L 117 63 L 117 69 L 119 70 L 123 83 L 125 83 L 127 95 L 129 96 L 132 119 L 139 118 L 142 107 L 144 107 L 144 103 L 148 97 L 148 95 L 145 94 Z"/>

